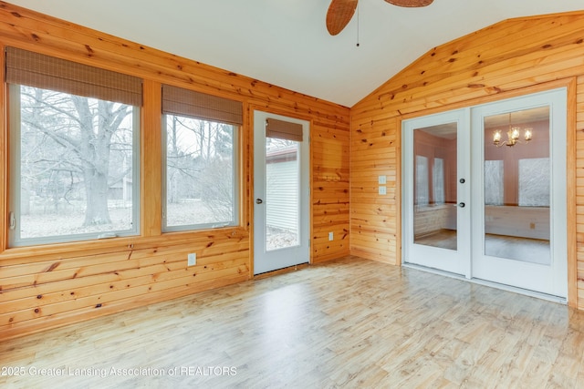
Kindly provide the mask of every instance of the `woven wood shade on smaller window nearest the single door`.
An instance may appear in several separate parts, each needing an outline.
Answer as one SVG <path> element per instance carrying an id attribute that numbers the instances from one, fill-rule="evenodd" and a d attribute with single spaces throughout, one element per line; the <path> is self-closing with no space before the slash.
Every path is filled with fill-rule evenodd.
<path id="1" fill-rule="evenodd" d="M 162 85 L 162 113 L 236 126 L 244 123 L 244 106 L 241 101 L 170 85 Z"/>

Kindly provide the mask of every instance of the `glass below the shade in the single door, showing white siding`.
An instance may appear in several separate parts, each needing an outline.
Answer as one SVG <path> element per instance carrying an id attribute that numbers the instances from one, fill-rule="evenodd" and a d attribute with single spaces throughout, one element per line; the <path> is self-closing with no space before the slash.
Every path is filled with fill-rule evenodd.
<path id="1" fill-rule="evenodd" d="M 266 251 L 298 245 L 298 146 L 266 138 Z"/>

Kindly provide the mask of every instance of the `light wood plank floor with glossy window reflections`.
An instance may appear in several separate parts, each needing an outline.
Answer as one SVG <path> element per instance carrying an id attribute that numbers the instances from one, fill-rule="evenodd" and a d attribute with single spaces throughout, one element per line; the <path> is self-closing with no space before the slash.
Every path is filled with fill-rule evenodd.
<path id="1" fill-rule="evenodd" d="M 573 388 L 584 312 L 348 257 L 7 341 L 0 365 L 9 388 Z"/>

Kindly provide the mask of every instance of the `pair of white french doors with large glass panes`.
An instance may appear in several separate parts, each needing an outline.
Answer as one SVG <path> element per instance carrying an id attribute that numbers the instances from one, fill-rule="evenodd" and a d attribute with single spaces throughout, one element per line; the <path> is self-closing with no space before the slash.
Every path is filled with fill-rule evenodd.
<path id="1" fill-rule="evenodd" d="M 566 298 L 566 109 L 562 88 L 404 120 L 402 261 Z"/>

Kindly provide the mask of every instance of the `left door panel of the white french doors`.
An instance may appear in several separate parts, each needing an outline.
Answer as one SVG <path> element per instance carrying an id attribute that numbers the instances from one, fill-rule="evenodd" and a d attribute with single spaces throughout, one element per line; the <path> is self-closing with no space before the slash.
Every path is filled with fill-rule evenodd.
<path id="1" fill-rule="evenodd" d="M 468 111 L 403 122 L 403 261 L 467 275 Z"/>

